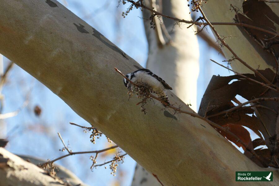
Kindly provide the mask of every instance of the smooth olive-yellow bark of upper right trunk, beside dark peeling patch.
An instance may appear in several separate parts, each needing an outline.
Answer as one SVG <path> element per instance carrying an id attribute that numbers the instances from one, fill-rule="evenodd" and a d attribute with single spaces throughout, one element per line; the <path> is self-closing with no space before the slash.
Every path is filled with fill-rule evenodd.
<path id="1" fill-rule="evenodd" d="M 253 2 L 254 0 L 249 0 Z M 247 1 L 246 1 L 247 2 Z M 254 1 L 256 2 L 256 1 Z M 233 11 L 231 5 L 239 9 L 239 13 L 243 13 L 243 1 L 238 0 L 230 0 L 230 1 L 223 1 L 223 0 L 215 0 L 215 1 L 208 1 L 202 10 L 204 11 L 206 17 L 209 19 L 210 22 L 234 22 L 236 18 L 236 12 Z M 274 23 L 275 28 L 277 30 L 272 30 L 273 32 L 278 33 L 278 14 L 279 14 L 279 6 L 278 3 L 265 3 L 260 2 L 267 5 L 270 10 L 267 12 L 266 9 L 264 11 L 258 11 L 257 16 L 265 16 L 267 19 L 272 19 L 270 14 L 274 16 L 276 21 L 271 20 Z M 262 4 L 259 4 L 262 6 Z M 250 6 L 253 9 L 252 6 Z M 264 7 L 262 7 L 264 8 Z M 245 12 L 246 13 L 246 12 Z M 269 15 L 267 15 L 269 13 Z M 277 18 L 276 18 L 277 14 Z M 245 15 L 246 16 L 246 15 Z M 247 17 L 247 16 L 246 16 Z M 247 17 L 248 18 L 248 17 Z M 250 19 L 250 18 L 249 18 Z M 256 20 L 252 20 L 255 21 Z M 264 24 L 264 22 L 262 23 Z M 237 26 L 224 26 L 224 25 L 214 25 L 215 29 L 219 33 L 220 36 L 228 37 L 225 41 L 228 45 L 232 48 L 232 50 L 247 64 L 249 64 L 254 69 L 266 69 L 270 68 L 275 71 L 275 62 L 272 55 L 263 50 L 259 43 L 253 39 L 253 37 L 249 36 L 242 28 Z M 263 28 L 268 28 L 267 26 L 263 26 Z M 217 39 L 217 38 L 216 38 Z M 232 54 L 226 47 L 222 47 L 222 51 L 224 52 L 226 58 L 232 59 Z M 239 73 L 252 73 L 251 70 L 246 68 L 243 64 L 239 61 L 232 61 L 231 62 L 232 69 L 237 70 Z"/>

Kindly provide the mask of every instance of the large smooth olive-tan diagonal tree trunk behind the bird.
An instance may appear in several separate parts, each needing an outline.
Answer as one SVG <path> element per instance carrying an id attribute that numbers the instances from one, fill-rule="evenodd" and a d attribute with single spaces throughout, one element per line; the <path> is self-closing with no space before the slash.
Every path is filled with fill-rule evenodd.
<path id="1" fill-rule="evenodd" d="M 123 73 L 139 67 L 97 30 L 57 1 L 0 1 L 0 53 L 14 61 L 96 126 L 165 185 L 234 185 L 235 171 L 258 167 L 189 115 L 177 120 L 149 103 L 144 115 L 127 101 Z M 173 93 L 170 102 L 191 111 Z M 171 112 L 171 111 L 169 111 Z M 233 163 L 232 163 L 233 162 Z M 269 169 L 273 170 L 273 169 Z M 277 185 L 273 182 L 255 185 Z M 237 183 L 237 185 L 246 185 Z"/>

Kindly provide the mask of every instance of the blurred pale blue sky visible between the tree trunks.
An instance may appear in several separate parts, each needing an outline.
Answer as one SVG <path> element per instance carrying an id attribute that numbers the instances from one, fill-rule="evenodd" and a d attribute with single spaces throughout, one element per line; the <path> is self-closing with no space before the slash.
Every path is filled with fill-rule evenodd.
<path id="1" fill-rule="evenodd" d="M 92 27 L 97 29 L 106 38 L 130 55 L 142 66 L 145 66 L 148 54 L 148 45 L 144 26 L 139 9 L 131 11 L 126 18 L 122 18 L 123 5 L 117 8 L 117 0 L 60 0 L 60 2 L 81 17 Z M 127 3 L 128 4 L 128 3 Z M 210 33 L 212 35 L 212 33 Z M 198 78 L 197 105 L 210 81 L 212 75 L 232 75 L 228 70 L 210 62 L 224 60 L 216 51 L 199 39 L 200 46 L 200 74 Z M 7 65 L 8 59 L 4 59 Z M 57 132 L 60 132 L 65 142 L 69 140 L 73 151 L 88 151 L 104 148 L 108 145 L 105 137 L 97 139 L 96 144 L 90 142 L 90 133 L 85 134 L 82 129 L 70 126 L 69 122 L 89 126 L 85 120 L 73 112 L 67 104 L 53 94 L 44 85 L 14 66 L 4 86 L 5 106 L 3 113 L 12 112 L 23 104 L 26 95 L 30 94 L 29 105 L 16 117 L 6 119 L 6 135 L 10 139 L 7 149 L 15 154 L 24 154 L 42 159 L 54 159 L 64 155 L 60 152 L 63 147 Z M 42 115 L 36 117 L 34 106 L 42 108 Z M 73 171 L 82 181 L 89 185 L 130 185 L 135 168 L 135 161 L 127 156 L 125 162 L 119 166 L 116 176 L 110 175 L 109 169 L 99 167 L 93 172 L 90 170 L 91 154 L 75 155 L 57 161 L 58 164 Z M 98 163 L 110 160 L 110 157 L 98 159 Z"/>

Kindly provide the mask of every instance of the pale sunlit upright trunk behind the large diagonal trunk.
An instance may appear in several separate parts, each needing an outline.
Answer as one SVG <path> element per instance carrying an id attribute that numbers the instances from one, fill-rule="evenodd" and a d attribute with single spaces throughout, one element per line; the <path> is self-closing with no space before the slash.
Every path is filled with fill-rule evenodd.
<path id="1" fill-rule="evenodd" d="M 165 15 L 191 20 L 187 4 L 187 1 L 181 0 L 157 0 L 156 3 L 154 0 L 145 1 L 146 6 L 155 7 L 157 11 Z M 144 9 L 143 20 L 149 46 L 146 68 L 163 78 L 173 88 L 172 92 L 184 103 L 191 103 L 190 107 L 196 111 L 197 78 L 199 75 L 199 46 L 197 36 L 194 35 L 193 31 L 196 28 L 193 26 L 187 29 L 187 24 L 176 25 L 174 20 L 162 18 L 159 20 L 155 17 L 154 20 L 158 20 L 159 24 L 156 24 L 155 29 L 152 29 L 150 28 L 150 16 L 150 11 Z M 164 26 L 167 33 L 164 33 Z M 160 33 L 161 40 L 158 39 Z M 162 44 L 162 40 L 165 44 Z M 137 164 L 132 186 L 138 185 L 161 186 L 153 175 L 148 174 L 144 168 Z"/>

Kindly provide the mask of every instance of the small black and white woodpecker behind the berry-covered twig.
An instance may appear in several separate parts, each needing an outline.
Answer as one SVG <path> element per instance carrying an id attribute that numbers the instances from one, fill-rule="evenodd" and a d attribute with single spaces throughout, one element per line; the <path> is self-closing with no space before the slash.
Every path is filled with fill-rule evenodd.
<path id="1" fill-rule="evenodd" d="M 154 74 L 148 69 L 139 69 L 135 72 L 129 73 L 126 75 L 128 79 L 132 82 L 145 82 L 147 83 L 153 91 L 157 93 L 159 98 L 164 100 L 166 103 L 170 104 L 169 97 L 166 95 L 165 90 L 172 90 L 172 88 L 159 76 Z M 129 81 L 124 78 L 124 85 L 128 88 Z"/>

